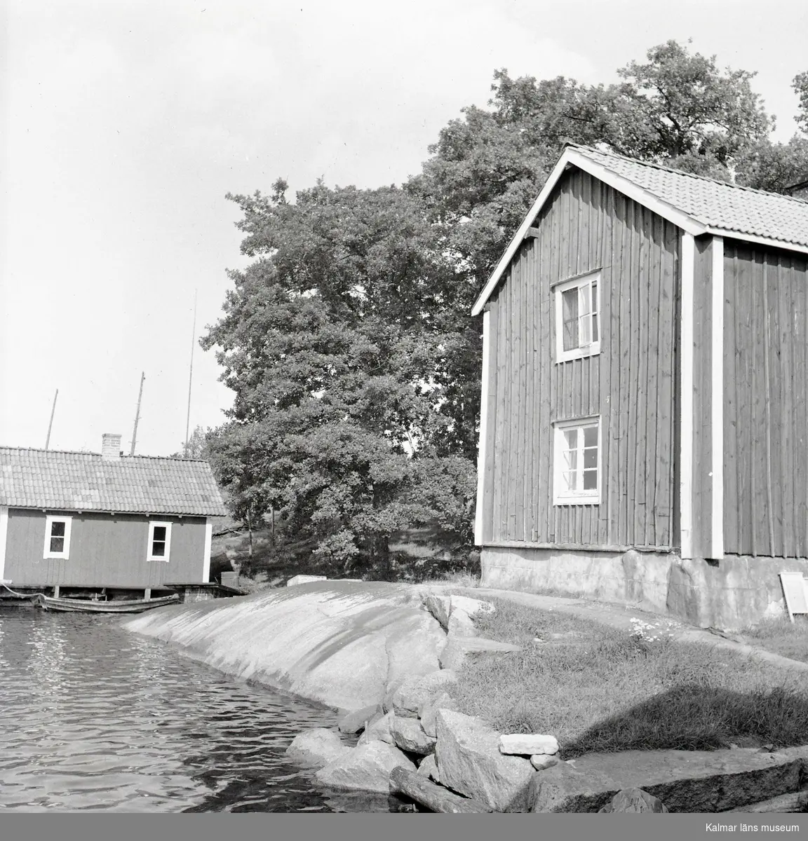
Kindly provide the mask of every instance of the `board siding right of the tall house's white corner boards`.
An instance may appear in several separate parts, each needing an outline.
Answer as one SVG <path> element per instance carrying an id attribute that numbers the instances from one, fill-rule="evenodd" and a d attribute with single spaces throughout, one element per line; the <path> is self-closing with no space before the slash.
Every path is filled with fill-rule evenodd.
<path id="1" fill-rule="evenodd" d="M 726 553 L 808 557 L 808 260 L 725 240 Z"/>

